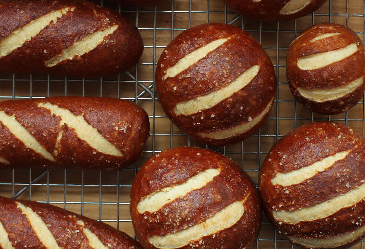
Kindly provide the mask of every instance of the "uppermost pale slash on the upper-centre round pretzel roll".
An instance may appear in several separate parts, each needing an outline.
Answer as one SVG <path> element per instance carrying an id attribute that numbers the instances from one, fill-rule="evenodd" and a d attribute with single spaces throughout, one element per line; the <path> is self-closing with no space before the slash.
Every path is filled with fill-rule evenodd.
<path id="1" fill-rule="evenodd" d="M 175 77 L 176 75 L 180 74 L 182 71 L 186 70 L 188 67 L 193 65 L 194 63 L 198 62 L 199 60 L 203 59 L 209 52 L 215 50 L 219 46 L 221 46 L 223 43 L 227 42 L 232 38 L 221 38 L 218 40 L 215 40 L 213 42 L 208 43 L 207 45 L 200 47 L 193 52 L 185 55 L 183 58 L 181 58 L 174 66 L 169 67 L 166 70 L 166 74 L 164 76 L 164 79 L 167 79 L 169 77 Z"/>

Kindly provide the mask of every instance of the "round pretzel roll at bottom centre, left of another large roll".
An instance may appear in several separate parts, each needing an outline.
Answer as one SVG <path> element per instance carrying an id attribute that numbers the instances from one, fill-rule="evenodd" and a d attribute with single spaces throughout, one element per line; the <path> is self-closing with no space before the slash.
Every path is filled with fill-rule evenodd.
<path id="1" fill-rule="evenodd" d="M 130 212 L 145 249 L 251 248 L 261 225 L 254 183 L 222 154 L 180 147 L 138 171 Z"/>

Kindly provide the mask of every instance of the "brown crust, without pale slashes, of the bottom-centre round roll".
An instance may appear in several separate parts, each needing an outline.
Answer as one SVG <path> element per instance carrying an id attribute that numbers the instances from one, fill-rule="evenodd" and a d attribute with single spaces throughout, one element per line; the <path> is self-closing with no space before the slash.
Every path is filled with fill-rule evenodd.
<path id="1" fill-rule="evenodd" d="M 138 202 L 146 195 L 164 187 L 184 183 L 201 171 L 218 168 L 221 168 L 220 174 L 201 189 L 189 192 L 184 198 L 175 199 L 157 212 L 138 212 Z M 235 225 L 221 230 L 215 236 L 201 238 L 204 244 L 192 241 L 190 245 L 181 248 L 188 249 L 191 245 L 210 249 L 221 246 L 223 249 L 251 248 L 260 230 L 261 205 L 253 182 L 227 157 L 200 148 L 168 149 L 147 161 L 134 179 L 130 204 L 132 224 L 143 247 L 152 249 L 155 247 L 149 243 L 149 237 L 163 236 L 199 224 L 247 195 L 249 197 L 244 204 L 245 212 Z"/>

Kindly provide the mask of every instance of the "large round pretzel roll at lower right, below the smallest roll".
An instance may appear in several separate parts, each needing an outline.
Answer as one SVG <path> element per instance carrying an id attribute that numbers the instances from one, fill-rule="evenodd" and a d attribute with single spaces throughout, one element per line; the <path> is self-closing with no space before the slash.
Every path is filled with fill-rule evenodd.
<path id="1" fill-rule="evenodd" d="M 264 211 L 301 248 L 350 248 L 365 235 L 365 138 L 334 122 L 301 126 L 269 151 Z"/>

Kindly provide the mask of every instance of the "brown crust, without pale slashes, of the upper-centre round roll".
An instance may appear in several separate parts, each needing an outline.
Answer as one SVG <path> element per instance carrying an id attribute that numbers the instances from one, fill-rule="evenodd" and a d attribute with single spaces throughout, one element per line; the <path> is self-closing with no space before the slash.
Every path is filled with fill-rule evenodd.
<path id="1" fill-rule="evenodd" d="M 185 55 L 218 39 L 231 37 L 222 46 L 209 52 L 186 70 L 164 80 L 167 68 Z M 252 66 L 260 70 L 251 83 L 215 106 L 191 115 L 176 115 L 177 103 L 207 95 L 228 86 Z M 156 68 L 156 91 L 166 115 L 176 126 L 192 138 L 212 145 L 227 145 L 250 137 L 265 122 L 249 131 L 226 139 L 210 139 L 196 133 L 234 128 L 248 123 L 273 102 L 276 77 L 272 62 L 265 50 L 248 33 L 237 27 L 209 23 L 187 29 L 178 35 L 162 52 Z"/>

